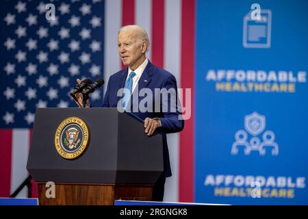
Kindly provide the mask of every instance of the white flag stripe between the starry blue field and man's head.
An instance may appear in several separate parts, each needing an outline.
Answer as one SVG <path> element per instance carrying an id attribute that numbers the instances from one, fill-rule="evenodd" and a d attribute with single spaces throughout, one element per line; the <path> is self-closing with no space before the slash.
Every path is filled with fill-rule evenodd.
<path id="1" fill-rule="evenodd" d="M 104 90 L 110 75 L 121 68 L 118 56 L 118 29 L 122 25 L 122 0 L 105 0 Z"/>

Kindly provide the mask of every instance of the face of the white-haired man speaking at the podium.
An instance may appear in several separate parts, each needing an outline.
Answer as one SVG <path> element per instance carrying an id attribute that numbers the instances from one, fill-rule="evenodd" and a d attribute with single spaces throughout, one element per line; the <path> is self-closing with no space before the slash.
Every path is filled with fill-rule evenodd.
<path id="1" fill-rule="evenodd" d="M 125 66 L 132 67 L 140 60 L 145 51 L 142 44 L 133 31 L 121 31 L 118 34 L 118 54 Z"/>

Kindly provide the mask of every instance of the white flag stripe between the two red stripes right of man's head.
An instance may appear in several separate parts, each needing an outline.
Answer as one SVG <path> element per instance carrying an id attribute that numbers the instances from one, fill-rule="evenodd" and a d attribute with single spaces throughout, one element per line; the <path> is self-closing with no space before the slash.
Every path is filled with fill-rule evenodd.
<path id="1" fill-rule="evenodd" d="M 181 1 L 165 1 L 164 68 L 180 84 L 181 68 Z M 166 179 L 164 201 L 179 201 L 179 133 L 168 134 L 172 177 Z"/>

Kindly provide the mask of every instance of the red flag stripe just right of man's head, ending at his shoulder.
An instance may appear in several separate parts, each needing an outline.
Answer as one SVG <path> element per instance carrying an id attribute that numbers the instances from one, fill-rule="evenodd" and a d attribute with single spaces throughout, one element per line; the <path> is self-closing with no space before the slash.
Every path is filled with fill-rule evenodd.
<path id="1" fill-rule="evenodd" d="M 164 68 L 164 0 L 152 1 L 152 62 Z"/>

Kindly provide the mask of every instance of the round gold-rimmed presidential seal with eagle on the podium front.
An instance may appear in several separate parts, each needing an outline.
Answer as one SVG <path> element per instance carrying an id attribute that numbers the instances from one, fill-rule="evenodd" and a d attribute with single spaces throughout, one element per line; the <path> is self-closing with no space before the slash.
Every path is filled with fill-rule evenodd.
<path id="1" fill-rule="evenodd" d="M 55 149 L 65 159 L 79 157 L 88 146 L 90 133 L 84 120 L 69 117 L 55 131 Z"/>

